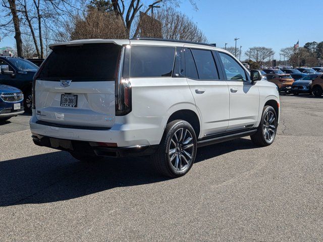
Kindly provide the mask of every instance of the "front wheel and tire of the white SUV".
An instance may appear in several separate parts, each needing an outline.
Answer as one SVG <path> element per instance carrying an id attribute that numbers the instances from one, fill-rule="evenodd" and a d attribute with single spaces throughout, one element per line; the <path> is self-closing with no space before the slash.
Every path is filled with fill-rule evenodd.
<path id="1" fill-rule="evenodd" d="M 273 144 L 277 132 L 277 114 L 272 106 L 264 106 L 257 132 L 250 136 L 251 141 L 258 146 Z"/>

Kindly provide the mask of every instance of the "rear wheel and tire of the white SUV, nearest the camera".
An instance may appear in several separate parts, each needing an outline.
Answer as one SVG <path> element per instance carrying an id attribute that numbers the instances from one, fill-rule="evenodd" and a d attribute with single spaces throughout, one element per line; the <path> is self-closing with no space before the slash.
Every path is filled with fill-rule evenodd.
<path id="1" fill-rule="evenodd" d="M 193 127 L 184 120 L 167 124 L 158 150 L 152 155 L 156 170 L 165 176 L 180 177 L 192 167 L 197 148 Z"/>

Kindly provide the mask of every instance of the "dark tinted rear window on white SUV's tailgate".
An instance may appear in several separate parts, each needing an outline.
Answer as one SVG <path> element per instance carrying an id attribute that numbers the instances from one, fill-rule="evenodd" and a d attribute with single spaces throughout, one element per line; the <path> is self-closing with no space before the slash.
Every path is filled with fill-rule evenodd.
<path id="1" fill-rule="evenodd" d="M 112 43 L 56 46 L 37 78 L 115 80 L 120 50 Z"/>

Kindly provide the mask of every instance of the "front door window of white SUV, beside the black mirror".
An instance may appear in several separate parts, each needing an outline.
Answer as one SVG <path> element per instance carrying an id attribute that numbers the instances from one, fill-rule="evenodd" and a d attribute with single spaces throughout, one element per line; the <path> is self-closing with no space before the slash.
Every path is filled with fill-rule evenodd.
<path id="1" fill-rule="evenodd" d="M 221 61 L 225 68 L 227 80 L 246 81 L 246 73 L 238 62 L 226 53 L 219 52 Z"/>

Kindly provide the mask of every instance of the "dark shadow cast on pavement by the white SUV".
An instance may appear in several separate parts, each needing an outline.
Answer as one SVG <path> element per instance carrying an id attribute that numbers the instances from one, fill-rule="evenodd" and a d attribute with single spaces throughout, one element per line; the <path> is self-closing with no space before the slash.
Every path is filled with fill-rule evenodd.
<path id="1" fill-rule="evenodd" d="M 195 162 L 255 146 L 238 139 L 198 149 Z M 0 162 L 0 207 L 78 198 L 116 187 L 158 183 L 149 157 L 79 162 L 64 151 Z"/>

